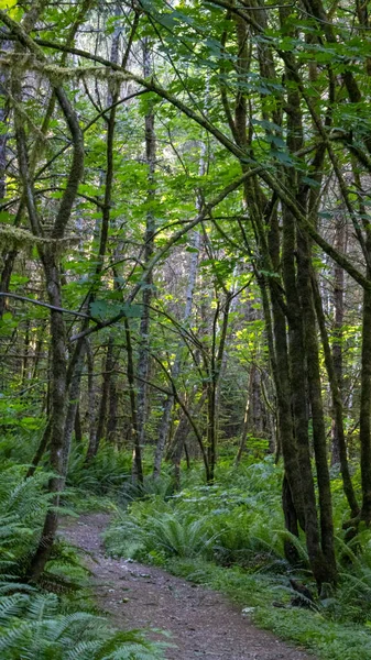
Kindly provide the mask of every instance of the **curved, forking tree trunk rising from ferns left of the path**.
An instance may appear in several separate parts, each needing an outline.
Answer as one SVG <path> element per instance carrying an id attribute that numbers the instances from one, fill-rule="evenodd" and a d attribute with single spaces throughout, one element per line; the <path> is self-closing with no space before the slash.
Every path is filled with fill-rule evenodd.
<path id="1" fill-rule="evenodd" d="M 37 12 L 41 11 L 42 8 L 43 3 L 41 2 L 37 4 L 36 8 L 33 8 L 30 11 L 30 13 L 33 13 L 32 25 L 37 20 Z M 32 29 L 32 26 L 30 29 Z M 25 33 L 23 33 L 23 30 L 20 26 L 18 28 L 18 30 L 23 38 L 25 36 L 26 30 Z M 73 110 L 64 89 L 62 89 L 59 86 L 56 86 L 54 90 L 73 141 L 73 154 L 67 180 L 51 232 L 52 239 L 61 240 L 64 238 L 66 227 L 70 219 L 78 186 L 83 177 L 85 153 L 84 138 L 77 116 Z M 20 92 L 19 81 L 14 81 L 13 92 L 15 99 L 18 99 Z M 14 124 L 18 162 L 21 172 L 23 193 L 26 200 L 29 220 L 33 233 L 36 237 L 41 238 L 43 235 L 43 229 L 35 201 L 34 183 L 32 178 L 33 175 L 32 172 L 30 172 L 29 167 L 30 158 L 28 152 L 26 134 L 24 130 L 23 118 L 19 116 L 17 109 L 14 112 Z M 64 487 L 65 481 L 63 449 L 67 397 L 66 328 L 63 318 L 63 312 L 57 311 L 55 309 L 61 309 L 61 307 L 63 307 L 58 255 L 56 254 L 54 245 L 39 248 L 39 252 L 43 264 L 48 301 L 53 307 L 53 309 L 51 309 L 51 342 L 53 370 L 51 384 L 52 415 L 50 463 L 54 476 L 50 480 L 48 484 L 48 491 L 53 496 L 51 503 L 52 506 L 46 514 L 40 543 L 34 557 L 31 560 L 31 565 L 29 570 L 29 576 L 32 581 L 39 580 L 41 573 L 44 570 L 45 563 L 50 557 L 50 552 L 57 529 L 57 508 L 59 504 L 61 491 Z"/>

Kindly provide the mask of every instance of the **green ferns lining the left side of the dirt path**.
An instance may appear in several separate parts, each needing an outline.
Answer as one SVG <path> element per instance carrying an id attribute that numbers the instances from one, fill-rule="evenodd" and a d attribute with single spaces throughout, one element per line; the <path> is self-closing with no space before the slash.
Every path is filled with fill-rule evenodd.
<path id="1" fill-rule="evenodd" d="M 24 479 L 25 466 L 0 475 L 1 660 L 154 660 L 163 645 L 143 631 L 120 632 L 96 613 L 89 571 L 77 549 L 58 538 L 37 585 L 26 582 L 50 506 L 50 474 Z"/>

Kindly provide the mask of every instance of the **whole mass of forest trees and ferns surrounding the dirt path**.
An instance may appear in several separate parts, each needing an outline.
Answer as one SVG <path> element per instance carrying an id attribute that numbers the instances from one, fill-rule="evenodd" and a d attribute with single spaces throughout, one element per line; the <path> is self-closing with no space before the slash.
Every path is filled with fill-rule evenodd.
<path id="1" fill-rule="evenodd" d="M 133 502 L 113 552 L 269 574 L 264 602 L 273 581 L 362 657 L 367 4 L 1 0 L 0 22 L 4 652 L 73 658 L 83 628 L 77 657 L 137 652 L 45 595 L 89 493 Z M 293 636 L 281 609 L 260 620 Z"/>

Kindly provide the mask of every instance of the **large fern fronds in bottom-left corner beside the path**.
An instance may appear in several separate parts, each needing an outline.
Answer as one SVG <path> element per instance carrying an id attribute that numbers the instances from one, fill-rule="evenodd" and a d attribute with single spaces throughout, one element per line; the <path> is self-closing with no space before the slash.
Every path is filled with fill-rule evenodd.
<path id="1" fill-rule="evenodd" d="M 162 650 L 140 631 L 116 631 L 89 612 L 61 612 L 55 594 L 0 598 L 3 660 L 160 660 Z"/>

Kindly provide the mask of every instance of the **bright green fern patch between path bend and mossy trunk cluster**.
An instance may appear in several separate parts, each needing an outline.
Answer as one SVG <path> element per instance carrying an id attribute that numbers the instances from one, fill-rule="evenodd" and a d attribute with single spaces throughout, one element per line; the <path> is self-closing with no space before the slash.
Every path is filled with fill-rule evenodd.
<path id="1" fill-rule="evenodd" d="M 268 460 L 237 474 L 229 470 L 210 486 L 148 494 L 119 514 L 106 535 L 108 549 L 142 560 L 199 556 L 223 565 L 281 571 L 286 562 L 280 479 L 281 470 Z M 273 487 L 264 491 L 263 483 Z"/>

